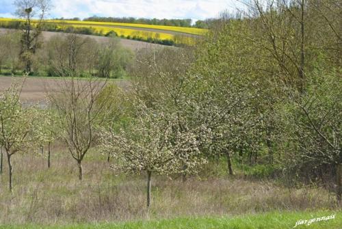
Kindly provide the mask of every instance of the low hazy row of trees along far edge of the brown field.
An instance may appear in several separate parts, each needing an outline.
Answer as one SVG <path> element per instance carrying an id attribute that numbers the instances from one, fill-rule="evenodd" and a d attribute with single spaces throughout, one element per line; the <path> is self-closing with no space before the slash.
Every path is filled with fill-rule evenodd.
<path id="1" fill-rule="evenodd" d="M 0 34 L 0 73 L 26 71 L 27 62 L 21 59 L 20 32 Z M 58 77 L 59 70 L 76 71 L 80 76 L 122 78 L 133 62 L 133 52 L 124 48 L 118 39 L 98 43 L 73 33 L 56 35 L 42 42 L 40 49 L 29 58 L 30 75 Z"/>

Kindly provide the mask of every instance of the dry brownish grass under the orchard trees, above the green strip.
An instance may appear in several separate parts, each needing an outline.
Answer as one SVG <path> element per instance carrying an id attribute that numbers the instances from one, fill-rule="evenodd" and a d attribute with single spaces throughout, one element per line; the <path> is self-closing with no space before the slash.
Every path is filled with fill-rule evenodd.
<path id="1" fill-rule="evenodd" d="M 92 150 L 84 160 L 84 180 L 61 146 L 52 167 L 38 154 L 14 156 L 14 192 L 7 166 L 0 176 L 0 224 L 66 224 L 186 216 L 239 215 L 274 210 L 334 208 L 324 189 L 284 189 L 241 178 L 190 178 L 183 183 L 153 176 L 152 207 L 145 210 L 144 176 L 113 174 L 105 157 Z"/>

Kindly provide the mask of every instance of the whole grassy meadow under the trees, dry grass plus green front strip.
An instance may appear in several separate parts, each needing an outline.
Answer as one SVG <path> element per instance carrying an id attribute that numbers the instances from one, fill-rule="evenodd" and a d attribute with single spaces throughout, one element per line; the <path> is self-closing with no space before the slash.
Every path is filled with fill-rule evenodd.
<path id="1" fill-rule="evenodd" d="M 334 196 L 324 189 L 284 188 L 245 176 L 244 170 L 230 177 L 224 161 L 207 165 L 203 173 L 185 182 L 177 175 L 155 176 L 147 210 L 143 175 L 113 172 L 107 157 L 92 148 L 80 181 L 63 144 L 53 144 L 50 168 L 46 150 L 41 154 L 37 148 L 14 157 L 13 193 L 5 185 L 8 167 L 4 164 L 0 228 L 292 228 L 300 219 L 333 214 L 335 219 L 310 227 L 341 225 Z"/>

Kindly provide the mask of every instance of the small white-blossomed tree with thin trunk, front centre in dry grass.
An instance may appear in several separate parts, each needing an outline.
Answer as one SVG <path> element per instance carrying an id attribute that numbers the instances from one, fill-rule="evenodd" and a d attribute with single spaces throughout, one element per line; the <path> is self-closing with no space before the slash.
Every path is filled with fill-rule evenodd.
<path id="1" fill-rule="evenodd" d="M 206 162 L 198 150 L 196 135 L 181 132 L 177 126 L 176 116 L 140 106 L 127 130 L 103 131 L 101 135 L 102 151 L 111 153 L 114 170 L 146 174 L 147 208 L 152 174 L 194 173 Z"/>

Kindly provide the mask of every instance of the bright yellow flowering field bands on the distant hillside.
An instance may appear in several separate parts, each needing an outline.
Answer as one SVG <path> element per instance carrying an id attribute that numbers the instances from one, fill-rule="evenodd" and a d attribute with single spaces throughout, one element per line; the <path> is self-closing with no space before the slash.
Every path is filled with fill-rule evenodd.
<path id="1" fill-rule="evenodd" d="M 18 25 L 19 23 L 19 25 Z M 14 18 L 0 18 L 0 27 L 20 27 L 22 20 Z M 115 34 L 120 38 L 141 40 L 151 43 L 168 45 L 193 45 L 196 38 L 207 33 L 207 29 L 190 27 L 172 27 L 164 25 L 144 25 L 133 23 L 104 23 L 92 21 L 45 21 L 45 31 L 75 31 L 76 33 L 109 36 Z"/>

